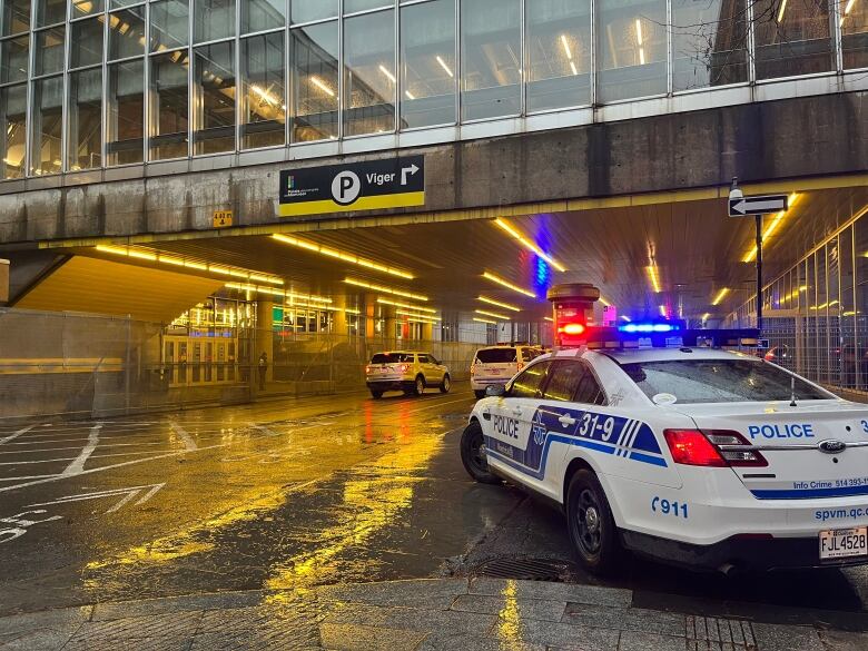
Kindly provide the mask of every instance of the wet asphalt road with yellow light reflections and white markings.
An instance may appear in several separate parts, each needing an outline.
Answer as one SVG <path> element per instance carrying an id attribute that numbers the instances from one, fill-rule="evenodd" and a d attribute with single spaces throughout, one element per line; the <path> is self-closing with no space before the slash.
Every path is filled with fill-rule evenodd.
<path id="1" fill-rule="evenodd" d="M 571 565 L 559 513 L 468 480 L 473 396 L 316 396 L 0 424 L 0 614 L 228 590 Z M 726 579 L 630 561 L 644 608 L 868 630 L 864 569 Z"/>

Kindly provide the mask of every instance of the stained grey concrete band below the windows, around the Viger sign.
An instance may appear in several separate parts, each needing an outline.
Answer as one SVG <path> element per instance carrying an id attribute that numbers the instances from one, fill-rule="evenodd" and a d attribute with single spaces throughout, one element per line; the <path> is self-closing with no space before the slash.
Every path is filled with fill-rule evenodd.
<path id="1" fill-rule="evenodd" d="M 418 149 L 426 155 L 424 211 L 720 186 L 732 176 L 750 183 L 864 171 L 867 95 L 760 102 Z M 251 167 L 231 167 L 231 160 L 215 159 L 215 167 L 225 168 L 209 171 L 66 187 L 60 179 L 61 187 L 27 191 L 11 193 L 16 186 L 0 184 L 0 244 L 208 230 L 218 209 L 235 210 L 237 226 L 285 223 L 277 216 L 279 171 L 339 159 Z"/>

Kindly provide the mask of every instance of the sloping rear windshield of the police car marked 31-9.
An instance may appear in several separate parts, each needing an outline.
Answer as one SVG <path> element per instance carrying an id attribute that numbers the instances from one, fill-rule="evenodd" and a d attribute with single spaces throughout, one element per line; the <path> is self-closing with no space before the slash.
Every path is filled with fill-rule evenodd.
<path id="1" fill-rule="evenodd" d="M 621 367 L 648 397 L 668 393 L 681 404 L 788 401 L 792 395 L 792 375 L 763 362 L 674 359 Z M 832 398 L 797 377 L 796 400 Z"/>

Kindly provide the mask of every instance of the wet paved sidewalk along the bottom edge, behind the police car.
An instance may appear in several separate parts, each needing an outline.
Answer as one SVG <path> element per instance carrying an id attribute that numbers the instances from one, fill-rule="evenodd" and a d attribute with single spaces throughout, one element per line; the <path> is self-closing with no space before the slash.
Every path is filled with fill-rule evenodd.
<path id="1" fill-rule="evenodd" d="M 631 606 L 629 590 L 464 579 L 234 592 L 0 618 L 0 649 L 864 651 L 868 633 Z"/>

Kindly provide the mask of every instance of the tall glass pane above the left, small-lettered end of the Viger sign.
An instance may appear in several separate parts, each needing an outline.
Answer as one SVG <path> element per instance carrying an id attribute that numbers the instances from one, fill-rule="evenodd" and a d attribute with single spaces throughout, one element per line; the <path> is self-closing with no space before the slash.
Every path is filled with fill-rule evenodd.
<path id="1" fill-rule="evenodd" d="M 294 142 L 337 138 L 337 22 L 289 32 Z"/>

